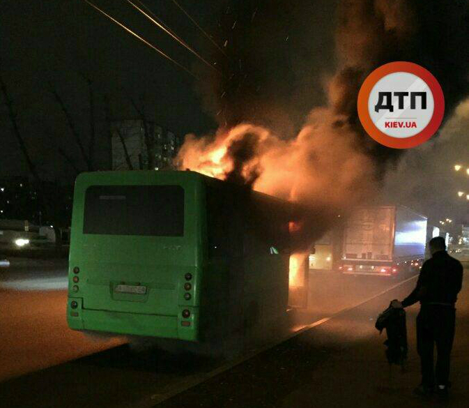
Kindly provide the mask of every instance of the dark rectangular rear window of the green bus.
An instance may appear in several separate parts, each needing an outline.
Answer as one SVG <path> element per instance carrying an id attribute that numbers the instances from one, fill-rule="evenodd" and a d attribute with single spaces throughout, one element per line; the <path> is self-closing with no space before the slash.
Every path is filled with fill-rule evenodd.
<path id="1" fill-rule="evenodd" d="M 180 186 L 91 186 L 86 189 L 84 234 L 183 236 Z"/>

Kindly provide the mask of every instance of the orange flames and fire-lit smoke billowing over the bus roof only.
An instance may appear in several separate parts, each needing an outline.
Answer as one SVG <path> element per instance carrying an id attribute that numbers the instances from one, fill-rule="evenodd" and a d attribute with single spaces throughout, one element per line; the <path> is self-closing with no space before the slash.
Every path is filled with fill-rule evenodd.
<path id="1" fill-rule="evenodd" d="M 289 140 L 250 123 L 213 136 L 187 135 L 176 163 L 217 179 L 236 176 L 256 191 L 343 213 L 344 197 L 353 204 L 367 195 L 374 167 L 353 144 L 354 130 L 346 123 L 338 126 L 339 119 L 330 109 L 317 108 Z"/>

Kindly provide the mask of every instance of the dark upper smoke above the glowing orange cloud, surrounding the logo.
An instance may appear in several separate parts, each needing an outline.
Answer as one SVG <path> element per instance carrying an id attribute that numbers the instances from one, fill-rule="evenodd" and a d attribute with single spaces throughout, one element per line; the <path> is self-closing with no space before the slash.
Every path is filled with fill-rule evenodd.
<path id="1" fill-rule="evenodd" d="M 440 82 L 449 116 L 469 91 L 467 16 L 461 0 L 233 1 L 219 20 L 228 58 L 218 63 L 217 119 L 226 128 L 249 122 L 288 138 L 310 109 L 327 104 L 383 172 L 401 151 L 364 134 L 356 110 L 364 77 L 390 61 L 418 63 Z"/>

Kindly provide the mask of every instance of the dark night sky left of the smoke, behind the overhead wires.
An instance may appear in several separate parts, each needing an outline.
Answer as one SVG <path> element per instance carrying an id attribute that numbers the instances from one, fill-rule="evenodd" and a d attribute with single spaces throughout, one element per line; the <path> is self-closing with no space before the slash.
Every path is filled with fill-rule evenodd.
<path id="1" fill-rule="evenodd" d="M 210 68 L 199 66 L 192 54 L 152 27 L 124 1 L 96 3 L 201 77 L 209 75 Z M 198 6 L 191 1 L 181 4 L 203 27 L 216 24 L 213 14 L 222 8 L 222 1 L 206 1 Z M 148 6 L 207 58 L 217 52 L 171 1 L 150 1 Z M 203 133 L 215 127 L 215 121 L 203 111 L 190 75 L 126 34 L 84 1 L 8 0 L 1 2 L 0 10 L 0 69 L 41 176 L 48 179 L 72 176 L 70 166 L 56 153 L 54 143 L 76 156 L 78 167 L 84 167 L 61 109 L 49 92 L 48 81 L 63 98 L 84 139 L 89 135 L 89 99 L 83 76 L 93 81 L 100 133 L 98 151 L 104 149 L 105 142 L 105 95 L 116 119 L 136 116 L 129 103 L 131 96 L 137 101 L 144 98 L 148 116 L 179 135 Z M 3 103 L 0 121 L 0 177 L 27 172 Z M 97 161 L 99 168 L 103 163 L 99 163 L 99 157 Z"/>

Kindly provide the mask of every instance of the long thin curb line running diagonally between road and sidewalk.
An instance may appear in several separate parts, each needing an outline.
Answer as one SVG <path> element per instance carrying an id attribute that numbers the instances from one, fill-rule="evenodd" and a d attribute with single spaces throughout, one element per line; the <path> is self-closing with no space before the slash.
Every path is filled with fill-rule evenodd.
<path id="1" fill-rule="evenodd" d="M 334 317 L 337 317 L 337 316 L 341 315 L 342 313 L 345 313 L 345 312 L 348 312 L 352 309 L 358 308 L 359 306 L 364 305 L 364 303 L 372 301 L 373 299 L 376 299 L 378 296 L 381 296 L 381 295 L 383 295 L 387 292 L 390 292 L 393 289 L 396 289 L 397 287 L 399 287 L 399 286 L 403 285 L 404 283 L 409 282 L 410 280 L 413 280 L 417 277 L 418 277 L 418 275 L 414 275 L 411 278 L 408 278 L 406 280 L 402 280 L 401 282 L 397 283 L 396 285 L 392 285 L 392 287 L 388 287 L 387 289 L 383 290 L 382 292 L 379 292 L 378 294 L 376 294 L 374 296 L 371 296 L 368 299 L 366 299 L 366 300 L 364 300 L 360 303 L 357 303 L 356 305 L 349 306 L 348 308 L 341 309 L 341 310 L 339 310 L 339 312 L 335 312 L 335 313 L 333 313 L 332 315 L 330 315 L 328 317 L 323 317 L 323 319 L 317 320 L 314 323 L 302 326 L 301 328 L 298 328 L 297 331 L 294 331 L 290 335 L 287 335 L 286 337 L 284 337 L 284 338 L 282 338 L 282 339 L 280 339 L 276 342 L 270 343 L 269 345 L 266 345 L 265 347 L 261 347 L 260 349 L 256 349 L 254 352 L 247 353 L 247 354 L 245 354 L 245 356 L 238 358 L 238 360 L 231 361 L 229 363 L 221 365 L 219 368 L 215 368 L 215 370 L 212 370 L 212 371 L 207 372 L 205 374 L 197 375 L 197 378 L 193 379 L 192 381 L 190 379 L 187 379 L 187 377 L 185 379 L 181 379 L 181 381 L 179 381 L 178 384 L 176 384 L 174 387 L 171 387 L 173 389 L 169 390 L 167 393 L 158 393 L 158 394 L 151 395 L 151 397 L 150 397 L 151 403 L 152 403 L 151 407 L 154 407 L 155 405 L 158 405 L 158 404 L 160 404 L 161 402 L 163 402 L 165 400 L 169 400 L 169 398 L 174 397 L 175 395 L 178 395 L 179 393 L 182 393 L 182 392 L 184 392 L 184 391 L 186 391 L 186 390 L 188 390 L 188 389 L 190 389 L 194 386 L 197 386 L 197 385 L 203 383 L 204 381 L 207 381 L 208 379 L 213 378 L 216 375 L 221 374 L 224 371 L 230 370 L 231 368 L 236 367 L 236 365 L 240 365 L 241 363 L 244 363 L 245 361 L 249 360 L 250 358 L 253 358 L 253 357 L 257 356 L 258 354 L 261 354 L 262 352 L 266 352 L 268 349 L 273 349 L 274 347 L 277 347 L 278 345 L 282 344 L 283 342 L 286 342 L 287 340 L 290 340 L 291 338 L 293 338 L 293 337 L 295 337 L 295 336 L 309 330 L 310 328 L 313 328 L 313 327 L 316 327 L 316 326 L 321 326 L 321 324 L 324 324 L 325 322 L 329 322 L 330 319 L 332 319 Z M 184 383 L 184 385 L 180 385 L 182 383 Z M 145 402 L 144 401 L 141 401 L 141 402 L 142 403 L 146 402 L 146 404 L 148 404 L 149 401 L 148 401 L 148 398 L 146 398 Z M 142 404 L 142 405 L 144 405 L 144 404 Z M 137 406 L 138 405 L 136 405 L 136 407 Z M 144 406 L 148 407 L 149 405 L 144 405 Z"/>

